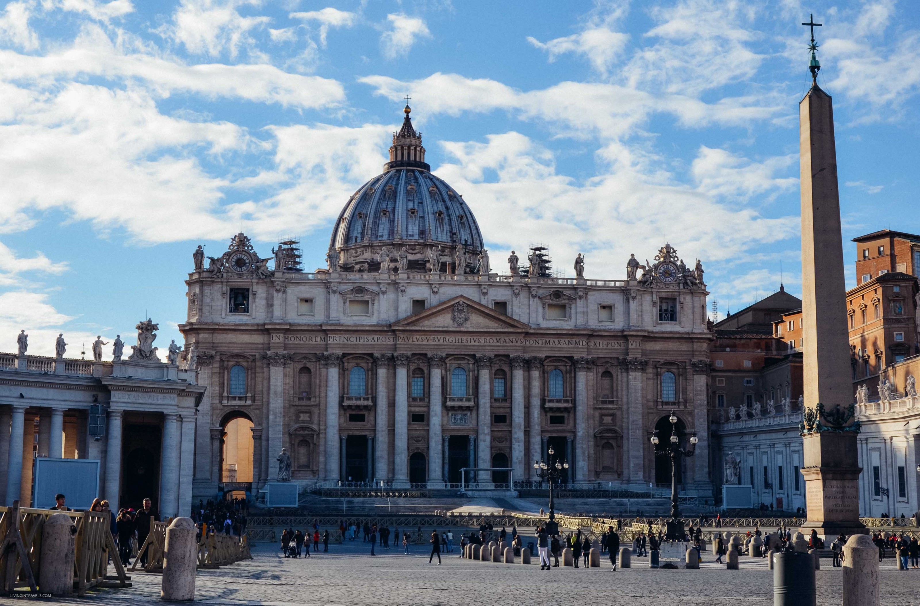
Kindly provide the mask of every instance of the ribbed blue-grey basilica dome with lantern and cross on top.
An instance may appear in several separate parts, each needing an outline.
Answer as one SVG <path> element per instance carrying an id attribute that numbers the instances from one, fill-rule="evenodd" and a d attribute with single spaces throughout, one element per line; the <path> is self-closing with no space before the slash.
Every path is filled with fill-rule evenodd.
<path id="1" fill-rule="evenodd" d="M 412 127 L 409 107 L 404 111 L 383 174 L 362 185 L 339 214 L 329 269 L 447 270 L 458 250 L 465 270 L 476 269 L 483 247 L 476 217 L 454 188 L 431 174 L 421 133 Z"/>

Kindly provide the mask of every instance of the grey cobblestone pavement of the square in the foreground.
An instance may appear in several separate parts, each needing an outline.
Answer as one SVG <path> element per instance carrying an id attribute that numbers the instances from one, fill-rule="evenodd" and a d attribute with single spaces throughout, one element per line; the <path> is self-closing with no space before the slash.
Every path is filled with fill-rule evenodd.
<path id="1" fill-rule="evenodd" d="M 773 604 L 773 573 L 765 560 L 742 557 L 741 570 L 730 571 L 704 556 L 700 570 L 651 570 L 648 558 L 634 558 L 635 567 L 554 568 L 539 565 L 491 564 L 444 554 L 443 566 L 428 564 L 421 546 L 403 555 L 402 549 L 380 549 L 371 557 L 367 543 L 330 545 L 328 554 L 285 559 L 268 543 L 256 543 L 253 560 L 200 570 L 196 601 L 202 604 L 374 604 L 414 606 L 434 604 L 628 604 L 661 606 L 662 598 L 680 604 Z M 435 558 L 435 561 L 436 558 Z M 536 561 L 536 560 L 534 560 Z M 830 565 L 824 560 L 823 564 Z M 817 571 L 818 604 L 838 606 L 841 570 Z M 920 595 L 920 570 L 899 572 L 894 560 L 882 564 L 882 603 L 907 606 Z M 162 604 L 160 576 L 134 574 L 132 589 L 101 589 L 84 599 L 41 600 L 42 603 L 98 603 L 113 606 Z M 24 599 L 0 599 L 22 604 Z M 30 600 L 29 600 L 30 601 Z"/>

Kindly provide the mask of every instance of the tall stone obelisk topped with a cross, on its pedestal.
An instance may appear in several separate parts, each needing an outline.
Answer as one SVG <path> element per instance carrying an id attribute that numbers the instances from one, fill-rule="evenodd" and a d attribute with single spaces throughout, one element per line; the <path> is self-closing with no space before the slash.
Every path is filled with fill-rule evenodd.
<path id="1" fill-rule="evenodd" d="M 834 108 L 817 83 L 811 23 L 811 89 L 799 103 L 801 170 L 804 419 L 801 425 L 805 506 L 802 532 L 866 532 L 859 522 L 859 463 L 846 327 L 846 285 Z"/>

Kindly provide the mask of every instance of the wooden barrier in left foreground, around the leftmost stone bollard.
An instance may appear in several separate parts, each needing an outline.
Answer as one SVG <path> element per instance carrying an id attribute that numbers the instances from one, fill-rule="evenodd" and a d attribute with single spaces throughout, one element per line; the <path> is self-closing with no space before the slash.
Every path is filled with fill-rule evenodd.
<path id="1" fill-rule="evenodd" d="M 76 526 L 74 588 L 77 595 L 94 587 L 131 587 L 131 577 L 121 566 L 118 549 L 109 532 L 109 514 L 86 511 L 56 511 L 54 509 L 0 507 L 0 571 L 3 571 L 3 590 L 13 593 L 17 588 L 28 587 L 38 591 L 36 578 L 41 561 L 41 529 L 45 520 L 55 513 L 64 513 Z M 107 576 L 109 555 L 115 566 L 115 575 Z"/>

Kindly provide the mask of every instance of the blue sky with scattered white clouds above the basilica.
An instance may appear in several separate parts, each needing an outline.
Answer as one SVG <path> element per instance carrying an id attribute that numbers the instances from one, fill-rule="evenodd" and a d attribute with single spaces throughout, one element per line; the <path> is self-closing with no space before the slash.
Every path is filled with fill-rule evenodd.
<path id="1" fill-rule="evenodd" d="M 19 0 L 0 12 L 0 350 L 180 339 L 191 252 L 286 235 L 308 269 L 412 97 L 493 265 L 546 243 L 622 279 L 665 242 L 719 311 L 799 293 L 799 23 L 858 234 L 920 232 L 920 13 L 894 0 Z M 179 342 L 181 342 L 179 340 Z M 159 343 L 159 341 L 158 341 Z M 107 348 L 107 352 L 109 348 Z M 108 353 L 107 353 L 107 358 Z"/>

